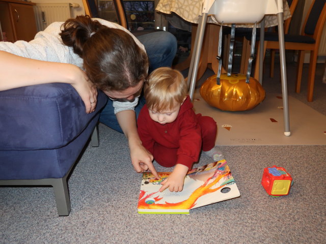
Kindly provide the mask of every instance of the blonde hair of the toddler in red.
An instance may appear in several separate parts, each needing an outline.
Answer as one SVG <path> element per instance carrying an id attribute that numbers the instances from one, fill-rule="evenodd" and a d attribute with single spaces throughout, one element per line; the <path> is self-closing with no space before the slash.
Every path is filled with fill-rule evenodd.
<path id="1" fill-rule="evenodd" d="M 187 94 L 187 84 L 183 75 L 169 67 L 154 70 L 145 82 L 144 96 L 147 107 L 157 112 L 181 104 Z"/>

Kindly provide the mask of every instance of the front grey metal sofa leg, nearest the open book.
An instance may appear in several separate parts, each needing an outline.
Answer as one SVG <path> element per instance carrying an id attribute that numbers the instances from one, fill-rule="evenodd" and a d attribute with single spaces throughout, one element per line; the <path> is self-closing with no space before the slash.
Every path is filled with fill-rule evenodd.
<path id="1" fill-rule="evenodd" d="M 68 216 L 70 213 L 70 198 L 68 192 L 67 178 L 53 179 L 53 190 L 55 191 L 56 203 L 59 216 Z"/>

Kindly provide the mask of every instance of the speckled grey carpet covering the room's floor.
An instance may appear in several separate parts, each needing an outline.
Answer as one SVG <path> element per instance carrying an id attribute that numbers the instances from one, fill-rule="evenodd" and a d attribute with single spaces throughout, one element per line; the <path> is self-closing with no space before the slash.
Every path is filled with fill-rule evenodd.
<path id="1" fill-rule="evenodd" d="M 289 94 L 326 115 L 323 67 L 314 102 L 306 102 L 306 82 L 301 94 L 292 93 L 294 75 Z M 280 93 L 277 77 L 265 79 L 267 93 Z M 141 175 L 133 171 L 127 142 L 99 129 L 100 146 L 88 145 L 69 178 L 70 216 L 57 216 L 52 188 L 0 188 L 0 243 L 325 243 L 325 145 L 221 146 L 239 198 L 195 208 L 189 216 L 139 215 Z M 209 162 L 202 156 L 196 166 Z M 288 196 L 270 197 L 260 185 L 263 169 L 273 165 L 293 177 Z"/>

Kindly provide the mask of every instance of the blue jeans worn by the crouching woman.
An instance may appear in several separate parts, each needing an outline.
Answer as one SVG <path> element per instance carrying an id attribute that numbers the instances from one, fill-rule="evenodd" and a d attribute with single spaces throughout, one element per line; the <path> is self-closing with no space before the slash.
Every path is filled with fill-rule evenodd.
<path id="1" fill-rule="evenodd" d="M 177 51 L 177 40 L 169 32 L 153 32 L 143 36 L 138 36 L 138 40 L 145 46 L 148 60 L 149 73 L 159 67 L 171 67 Z M 145 104 L 143 96 L 140 97 L 138 105 L 135 107 L 136 117 Z M 108 99 L 106 106 L 100 114 L 99 121 L 104 125 L 123 133 L 116 115 L 112 101 Z"/>

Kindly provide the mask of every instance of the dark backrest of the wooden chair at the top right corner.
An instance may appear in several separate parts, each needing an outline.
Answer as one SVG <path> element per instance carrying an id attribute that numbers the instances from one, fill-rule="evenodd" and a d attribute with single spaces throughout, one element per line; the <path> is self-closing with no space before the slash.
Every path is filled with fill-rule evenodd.
<path id="1" fill-rule="evenodd" d="M 326 0 L 314 0 L 308 11 L 302 35 L 318 40 L 326 19 Z"/>

